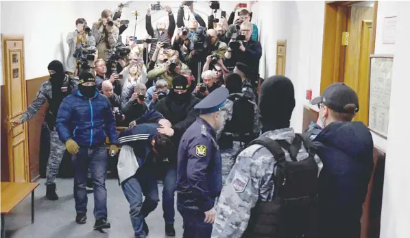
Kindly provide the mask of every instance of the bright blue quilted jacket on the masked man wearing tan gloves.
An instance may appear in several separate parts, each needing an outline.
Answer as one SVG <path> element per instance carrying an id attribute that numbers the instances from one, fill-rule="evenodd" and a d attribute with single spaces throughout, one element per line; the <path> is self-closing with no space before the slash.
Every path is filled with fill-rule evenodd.
<path id="1" fill-rule="evenodd" d="M 108 134 L 110 143 L 119 144 L 110 100 L 97 91 L 90 99 L 78 90 L 65 97 L 58 108 L 56 128 L 63 143 L 73 139 L 80 146 L 95 147 L 103 145 Z"/>

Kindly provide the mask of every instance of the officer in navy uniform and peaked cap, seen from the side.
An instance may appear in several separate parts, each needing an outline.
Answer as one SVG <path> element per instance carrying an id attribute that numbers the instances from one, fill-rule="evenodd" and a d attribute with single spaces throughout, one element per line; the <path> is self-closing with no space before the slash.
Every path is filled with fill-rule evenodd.
<path id="1" fill-rule="evenodd" d="M 195 108 L 200 117 L 186 130 L 178 147 L 177 209 L 184 238 L 209 238 L 215 220 L 215 198 L 222 188 L 221 153 L 215 130 L 224 123 L 228 89 L 217 88 Z"/>

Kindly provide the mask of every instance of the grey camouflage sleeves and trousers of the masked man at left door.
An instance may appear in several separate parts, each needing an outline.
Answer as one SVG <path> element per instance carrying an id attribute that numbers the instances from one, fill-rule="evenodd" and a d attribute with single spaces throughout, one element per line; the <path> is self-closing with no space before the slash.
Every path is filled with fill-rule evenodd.
<path id="1" fill-rule="evenodd" d="M 73 87 L 77 87 L 77 81 L 71 80 L 71 84 Z M 66 75 L 64 78 L 64 83 L 62 86 L 69 86 L 69 76 Z M 41 84 L 40 89 L 38 90 L 36 99 L 30 104 L 21 115 L 22 122 L 31 120 L 34 115 L 37 114 L 38 110 L 45 104 L 47 99 L 51 99 L 52 90 L 51 90 L 51 82 L 47 80 Z M 47 124 L 47 123 L 46 123 Z M 52 185 L 56 180 L 58 174 L 58 167 L 60 166 L 62 156 L 66 150 L 66 146 L 58 139 L 58 133 L 56 131 L 56 127 L 53 130 L 50 130 L 47 126 L 47 129 L 50 133 L 50 155 L 49 160 L 47 162 L 47 172 L 46 172 L 46 181 L 45 185 Z"/>

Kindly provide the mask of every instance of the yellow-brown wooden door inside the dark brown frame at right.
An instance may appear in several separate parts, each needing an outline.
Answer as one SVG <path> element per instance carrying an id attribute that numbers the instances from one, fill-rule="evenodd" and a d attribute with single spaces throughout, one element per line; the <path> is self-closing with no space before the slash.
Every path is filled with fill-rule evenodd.
<path id="1" fill-rule="evenodd" d="M 348 7 L 348 45 L 343 82 L 359 96 L 359 112 L 354 121 L 369 123 L 369 56 L 374 8 L 363 5 Z"/>

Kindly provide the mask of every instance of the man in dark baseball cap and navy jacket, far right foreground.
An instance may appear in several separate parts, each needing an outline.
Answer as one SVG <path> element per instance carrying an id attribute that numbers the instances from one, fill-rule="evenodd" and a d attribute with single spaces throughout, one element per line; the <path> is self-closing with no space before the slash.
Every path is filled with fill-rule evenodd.
<path id="1" fill-rule="evenodd" d="M 357 94 L 343 83 L 331 84 L 312 100 L 319 123 L 309 133 L 324 167 L 319 176 L 319 237 L 359 238 L 362 205 L 373 170 L 373 139 L 361 121 Z"/>

